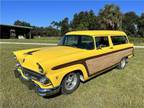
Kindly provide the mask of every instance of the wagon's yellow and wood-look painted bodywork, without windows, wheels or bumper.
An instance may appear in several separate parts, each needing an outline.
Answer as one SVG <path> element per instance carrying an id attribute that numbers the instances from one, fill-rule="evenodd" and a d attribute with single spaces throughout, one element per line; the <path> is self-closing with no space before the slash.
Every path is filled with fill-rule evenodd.
<path id="1" fill-rule="evenodd" d="M 37 63 L 42 66 L 43 74 L 50 80 L 50 83 L 45 85 L 33 80 L 41 88 L 47 89 L 60 86 L 63 78 L 74 71 L 79 71 L 81 80 L 86 81 L 114 67 L 123 57 L 129 58 L 133 55 L 133 44 L 130 42 L 115 46 L 112 43 L 112 36 L 127 37 L 122 31 L 74 31 L 66 35 L 91 36 L 94 43 L 95 37 L 106 36 L 109 40 L 109 46 L 97 49 L 96 44 L 94 44 L 92 50 L 54 46 L 15 51 L 14 55 L 22 67 L 41 74 Z M 23 77 L 26 76 L 23 75 Z"/>

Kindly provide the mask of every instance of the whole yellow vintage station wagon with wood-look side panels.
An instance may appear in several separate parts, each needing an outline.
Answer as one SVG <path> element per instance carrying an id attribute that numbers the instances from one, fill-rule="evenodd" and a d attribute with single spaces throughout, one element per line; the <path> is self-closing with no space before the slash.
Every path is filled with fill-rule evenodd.
<path id="1" fill-rule="evenodd" d="M 122 31 L 73 31 L 57 46 L 15 51 L 14 73 L 40 96 L 70 94 L 80 81 L 114 67 L 123 69 L 133 50 Z"/>

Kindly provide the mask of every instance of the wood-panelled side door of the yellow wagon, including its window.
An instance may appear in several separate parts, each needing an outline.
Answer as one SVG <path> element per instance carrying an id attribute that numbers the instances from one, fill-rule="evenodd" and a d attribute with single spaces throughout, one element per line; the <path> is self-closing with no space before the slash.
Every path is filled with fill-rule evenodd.
<path id="1" fill-rule="evenodd" d="M 89 75 L 103 71 L 115 63 L 115 61 L 113 62 L 113 55 L 111 54 L 111 52 L 113 52 L 113 46 L 111 46 L 108 36 L 95 37 L 95 44 L 95 53 L 97 55 L 86 60 Z"/>

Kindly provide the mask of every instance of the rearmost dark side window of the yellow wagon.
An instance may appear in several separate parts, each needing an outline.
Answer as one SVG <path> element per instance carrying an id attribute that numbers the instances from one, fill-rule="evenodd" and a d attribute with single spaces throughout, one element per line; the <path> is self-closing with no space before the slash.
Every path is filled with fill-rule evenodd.
<path id="1" fill-rule="evenodd" d="M 112 43 L 113 45 L 120 45 L 128 43 L 126 36 L 112 36 Z"/>

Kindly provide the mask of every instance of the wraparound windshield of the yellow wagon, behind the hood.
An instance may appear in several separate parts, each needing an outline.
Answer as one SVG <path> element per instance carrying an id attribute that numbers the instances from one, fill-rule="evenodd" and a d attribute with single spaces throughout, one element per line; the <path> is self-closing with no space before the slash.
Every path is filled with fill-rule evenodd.
<path id="1" fill-rule="evenodd" d="M 94 49 L 94 40 L 91 36 L 65 35 L 58 45 L 91 50 Z"/>

